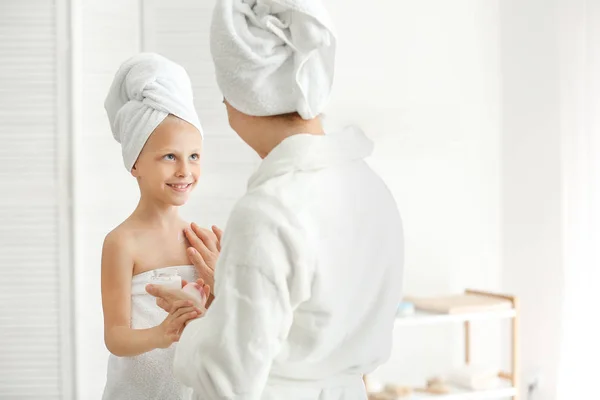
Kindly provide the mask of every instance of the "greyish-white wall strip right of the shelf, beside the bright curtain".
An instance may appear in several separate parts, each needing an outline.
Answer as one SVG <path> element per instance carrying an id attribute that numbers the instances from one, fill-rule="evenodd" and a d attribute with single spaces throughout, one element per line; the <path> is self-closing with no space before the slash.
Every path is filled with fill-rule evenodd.
<path id="1" fill-rule="evenodd" d="M 552 400 L 563 301 L 559 15 L 554 0 L 500 4 L 503 286 L 521 298 L 522 376 L 539 376 L 537 398 Z"/>

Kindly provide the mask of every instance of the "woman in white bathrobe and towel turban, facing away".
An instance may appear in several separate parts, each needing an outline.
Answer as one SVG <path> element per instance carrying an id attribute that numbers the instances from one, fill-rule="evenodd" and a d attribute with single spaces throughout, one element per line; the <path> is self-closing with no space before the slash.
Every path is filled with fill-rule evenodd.
<path id="1" fill-rule="evenodd" d="M 230 125 L 263 161 L 220 247 L 188 232 L 215 298 L 184 329 L 175 373 L 198 399 L 366 399 L 363 375 L 391 351 L 402 224 L 364 161 L 371 141 L 319 120 L 333 81 L 327 12 L 218 0 L 211 51 Z M 186 296 L 147 290 L 169 312 Z"/>

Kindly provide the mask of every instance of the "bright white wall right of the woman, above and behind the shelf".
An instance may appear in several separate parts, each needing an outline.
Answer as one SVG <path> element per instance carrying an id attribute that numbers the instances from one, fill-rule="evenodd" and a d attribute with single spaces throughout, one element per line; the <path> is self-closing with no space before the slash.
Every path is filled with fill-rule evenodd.
<path id="1" fill-rule="evenodd" d="M 359 123 L 376 143 L 370 162 L 392 190 L 405 223 L 405 291 L 497 291 L 498 2 L 363 5 L 330 2 L 340 47 L 326 121 Z M 392 359 L 374 377 L 423 384 L 462 362 L 461 327 L 397 331 Z M 475 325 L 474 361 L 501 361 L 499 327 Z"/>

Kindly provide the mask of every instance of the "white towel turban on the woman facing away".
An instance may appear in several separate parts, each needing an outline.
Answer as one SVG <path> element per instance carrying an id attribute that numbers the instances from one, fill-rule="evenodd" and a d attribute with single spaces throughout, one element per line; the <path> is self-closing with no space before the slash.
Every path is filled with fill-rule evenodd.
<path id="1" fill-rule="evenodd" d="M 335 34 L 321 0 L 216 0 L 210 44 L 225 99 L 254 116 L 318 116 L 333 84 Z"/>

